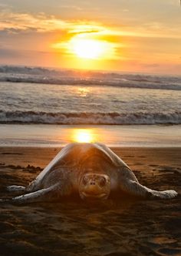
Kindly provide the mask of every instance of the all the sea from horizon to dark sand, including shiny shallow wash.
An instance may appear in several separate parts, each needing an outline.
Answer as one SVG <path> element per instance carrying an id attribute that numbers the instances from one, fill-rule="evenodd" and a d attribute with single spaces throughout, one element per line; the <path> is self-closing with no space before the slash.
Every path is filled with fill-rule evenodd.
<path id="1" fill-rule="evenodd" d="M 181 76 L 0 66 L 0 146 L 181 147 Z"/>

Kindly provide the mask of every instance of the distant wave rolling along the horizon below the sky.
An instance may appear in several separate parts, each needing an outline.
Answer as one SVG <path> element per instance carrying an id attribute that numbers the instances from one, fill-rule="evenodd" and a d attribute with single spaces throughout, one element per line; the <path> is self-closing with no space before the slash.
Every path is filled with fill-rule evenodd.
<path id="1" fill-rule="evenodd" d="M 0 66 L 0 82 L 181 90 L 180 76 L 86 72 L 27 66 Z"/>

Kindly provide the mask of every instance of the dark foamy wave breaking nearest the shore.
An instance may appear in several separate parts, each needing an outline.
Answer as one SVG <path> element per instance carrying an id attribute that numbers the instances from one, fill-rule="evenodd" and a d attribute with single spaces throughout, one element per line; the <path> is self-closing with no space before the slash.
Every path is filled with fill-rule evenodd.
<path id="1" fill-rule="evenodd" d="M 180 124 L 181 112 L 172 113 L 45 113 L 0 111 L 0 123 L 47 124 Z"/>

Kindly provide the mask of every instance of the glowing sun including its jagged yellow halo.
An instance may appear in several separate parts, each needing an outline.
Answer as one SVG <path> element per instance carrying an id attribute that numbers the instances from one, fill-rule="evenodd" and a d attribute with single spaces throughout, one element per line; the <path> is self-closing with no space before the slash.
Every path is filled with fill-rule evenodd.
<path id="1" fill-rule="evenodd" d="M 54 42 L 51 47 L 58 52 L 67 55 L 67 59 L 81 66 L 83 69 L 87 65 L 94 67 L 97 61 L 107 61 L 117 59 L 117 44 L 111 42 L 109 38 L 100 39 L 95 35 L 81 33 L 74 35 L 71 39 L 62 42 Z M 77 62 L 78 61 L 78 62 Z"/>

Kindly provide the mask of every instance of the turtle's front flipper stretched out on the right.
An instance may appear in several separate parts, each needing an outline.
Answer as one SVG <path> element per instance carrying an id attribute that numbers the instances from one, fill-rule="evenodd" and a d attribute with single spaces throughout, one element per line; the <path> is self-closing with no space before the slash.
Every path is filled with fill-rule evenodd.
<path id="1" fill-rule="evenodd" d="M 150 188 L 139 184 L 137 181 L 132 180 L 127 180 L 121 184 L 120 189 L 127 194 L 143 198 L 171 199 L 177 196 L 177 192 L 175 190 L 151 190 Z"/>

